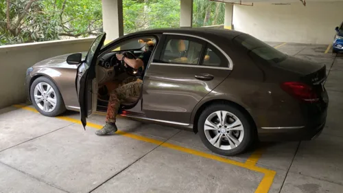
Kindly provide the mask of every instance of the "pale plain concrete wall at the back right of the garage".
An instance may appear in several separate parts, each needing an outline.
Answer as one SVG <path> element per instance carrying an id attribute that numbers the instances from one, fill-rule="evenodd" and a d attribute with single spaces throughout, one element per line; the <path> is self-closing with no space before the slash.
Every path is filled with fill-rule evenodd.
<path id="1" fill-rule="evenodd" d="M 343 21 L 342 8 L 342 1 L 309 1 L 306 7 L 300 1 L 291 5 L 235 5 L 233 25 L 262 41 L 329 44 L 335 27 Z"/>

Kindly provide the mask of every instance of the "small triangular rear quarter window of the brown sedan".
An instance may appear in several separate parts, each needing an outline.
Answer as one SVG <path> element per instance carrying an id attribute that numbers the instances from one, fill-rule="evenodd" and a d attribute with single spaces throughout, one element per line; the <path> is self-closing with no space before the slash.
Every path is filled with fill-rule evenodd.
<path id="1" fill-rule="evenodd" d="M 225 58 L 222 52 L 216 49 L 213 45 L 207 44 L 204 58 L 200 65 L 210 67 L 228 67 L 228 60 Z"/>

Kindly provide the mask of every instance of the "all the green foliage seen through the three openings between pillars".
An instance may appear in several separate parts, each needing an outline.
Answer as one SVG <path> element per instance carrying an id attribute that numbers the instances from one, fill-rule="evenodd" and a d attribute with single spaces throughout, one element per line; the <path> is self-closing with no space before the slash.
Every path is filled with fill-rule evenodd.
<path id="1" fill-rule="evenodd" d="M 224 23 L 224 3 L 193 0 L 193 26 Z M 180 0 L 123 0 L 124 33 L 178 27 Z M 102 32 L 102 0 L 0 0 L 0 45 Z"/>

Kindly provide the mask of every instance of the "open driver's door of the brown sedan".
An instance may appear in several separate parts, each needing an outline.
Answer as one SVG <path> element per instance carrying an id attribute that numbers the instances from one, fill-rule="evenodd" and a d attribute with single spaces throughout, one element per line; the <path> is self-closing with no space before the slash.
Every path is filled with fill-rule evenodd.
<path id="1" fill-rule="evenodd" d="M 86 118 L 96 111 L 97 106 L 97 81 L 95 77 L 95 65 L 100 49 L 104 45 L 106 33 L 95 38 L 86 59 L 79 65 L 75 78 L 76 92 L 80 103 L 80 116 L 82 126 L 86 129 Z"/>

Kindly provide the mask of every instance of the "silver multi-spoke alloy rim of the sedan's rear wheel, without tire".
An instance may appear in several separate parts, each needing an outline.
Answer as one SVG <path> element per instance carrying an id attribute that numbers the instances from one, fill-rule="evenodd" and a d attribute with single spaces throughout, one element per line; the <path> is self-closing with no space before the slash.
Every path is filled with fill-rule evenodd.
<path id="1" fill-rule="evenodd" d="M 221 150 L 237 148 L 244 139 L 244 126 L 228 111 L 216 111 L 206 118 L 204 133 L 209 142 Z"/>

